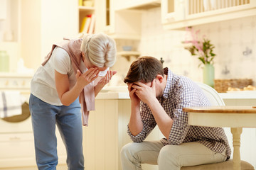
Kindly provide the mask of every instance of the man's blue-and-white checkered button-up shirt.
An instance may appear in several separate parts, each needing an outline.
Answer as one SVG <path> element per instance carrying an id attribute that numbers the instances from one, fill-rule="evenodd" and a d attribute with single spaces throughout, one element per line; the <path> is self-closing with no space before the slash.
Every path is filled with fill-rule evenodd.
<path id="1" fill-rule="evenodd" d="M 159 103 L 164 111 L 169 115 L 174 123 L 171 127 L 169 140 L 161 139 L 164 145 L 181 145 L 183 142 L 200 142 L 213 152 L 222 153 L 227 149 L 227 156 L 230 157 L 231 150 L 228 145 L 228 139 L 223 128 L 210 128 L 188 125 L 188 113 L 183 112 L 185 107 L 210 106 L 210 101 L 203 94 L 201 88 L 191 79 L 178 76 L 170 69 L 164 68 L 164 74 L 167 74 L 167 83 L 163 96 L 159 97 Z M 146 103 L 141 102 L 141 117 L 143 130 L 134 136 L 129 131 L 128 134 L 133 142 L 143 142 L 147 135 L 156 126 L 156 120 Z"/>

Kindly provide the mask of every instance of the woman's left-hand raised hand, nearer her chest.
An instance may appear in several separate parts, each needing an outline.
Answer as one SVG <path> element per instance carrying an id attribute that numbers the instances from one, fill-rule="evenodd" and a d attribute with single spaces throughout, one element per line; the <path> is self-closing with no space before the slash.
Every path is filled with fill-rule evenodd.
<path id="1" fill-rule="evenodd" d="M 77 74 L 75 75 L 75 78 L 77 79 L 77 85 L 83 88 L 87 84 L 90 84 L 92 81 L 97 79 L 99 74 L 99 70 L 97 67 L 88 69 L 85 73 L 81 73 L 79 70 L 77 71 Z"/>

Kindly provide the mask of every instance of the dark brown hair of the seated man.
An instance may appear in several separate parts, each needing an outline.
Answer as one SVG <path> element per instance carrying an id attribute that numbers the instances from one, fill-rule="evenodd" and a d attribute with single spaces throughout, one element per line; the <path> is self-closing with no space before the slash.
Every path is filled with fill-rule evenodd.
<path id="1" fill-rule="evenodd" d="M 124 83 L 143 81 L 148 83 L 156 78 L 157 74 L 164 76 L 163 65 L 155 57 L 143 56 L 132 62 Z"/>

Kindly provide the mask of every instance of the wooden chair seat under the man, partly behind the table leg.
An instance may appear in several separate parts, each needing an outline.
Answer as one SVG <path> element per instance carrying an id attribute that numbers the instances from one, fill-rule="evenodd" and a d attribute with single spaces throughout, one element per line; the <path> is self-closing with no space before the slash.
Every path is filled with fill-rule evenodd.
<path id="1" fill-rule="evenodd" d="M 217 164 L 203 164 L 198 166 L 184 166 L 181 170 L 233 170 L 233 160 L 217 163 Z M 241 160 L 241 170 L 255 170 L 248 162 Z"/>

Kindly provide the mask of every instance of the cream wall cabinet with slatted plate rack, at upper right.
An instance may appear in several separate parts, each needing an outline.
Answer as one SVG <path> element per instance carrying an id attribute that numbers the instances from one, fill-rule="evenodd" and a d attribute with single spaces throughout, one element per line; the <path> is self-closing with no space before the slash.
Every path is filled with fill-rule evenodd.
<path id="1" fill-rule="evenodd" d="M 161 0 L 161 22 L 164 29 L 183 29 L 255 15 L 256 1 Z"/>

